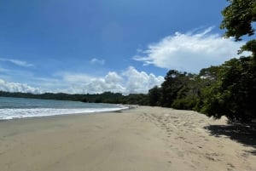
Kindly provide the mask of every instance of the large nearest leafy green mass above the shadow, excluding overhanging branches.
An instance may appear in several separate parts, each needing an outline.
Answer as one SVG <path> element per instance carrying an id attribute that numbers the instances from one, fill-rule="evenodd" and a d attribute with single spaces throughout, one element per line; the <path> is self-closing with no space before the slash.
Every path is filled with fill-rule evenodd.
<path id="1" fill-rule="evenodd" d="M 201 112 L 208 117 L 226 116 L 231 122 L 256 118 L 256 66 L 252 57 L 226 61 L 218 79 L 203 89 Z"/>

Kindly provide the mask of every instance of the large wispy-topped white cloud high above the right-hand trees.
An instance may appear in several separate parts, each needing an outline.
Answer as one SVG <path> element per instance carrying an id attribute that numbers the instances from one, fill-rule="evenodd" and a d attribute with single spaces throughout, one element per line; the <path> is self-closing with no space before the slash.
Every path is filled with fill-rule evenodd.
<path id="1" fill-rule="evenodd" d="M 237 57 L 237 50 L 244 43 L 234 42 L 232 38 L 227 39 L 211 31 L 212 27 L 199 33 L 176 32 L 158 43 L 149 44 L 134 60 L 143 61 L 144 66 L 198 72 Z"/>

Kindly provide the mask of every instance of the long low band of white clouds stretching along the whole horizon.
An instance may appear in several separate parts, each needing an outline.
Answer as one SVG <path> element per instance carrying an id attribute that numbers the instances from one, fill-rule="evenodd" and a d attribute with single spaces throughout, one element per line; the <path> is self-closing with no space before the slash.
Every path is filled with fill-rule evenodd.
<path id="1" fill-rule="evenodd" d="M 32 86 L 24 83 L 11 83 L 0 79 L 0 90 L 9 92 L 29 93 L 68 93 L 68 94 L 101 94 L 113 92 L 122 94 L 146 94 L 148 89 L 160 86 L 164 77 L 137 71 L 130 66 L 125 71 L 117 73 L 109 71 L 103 77 L 90 76 L 83 73 L 58 72 L 51 78 L 32 78 Z M 33 83 L 34 82 L 34 83 Z M 35 88 L 40 86 L 40 88 Z"/>

